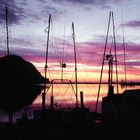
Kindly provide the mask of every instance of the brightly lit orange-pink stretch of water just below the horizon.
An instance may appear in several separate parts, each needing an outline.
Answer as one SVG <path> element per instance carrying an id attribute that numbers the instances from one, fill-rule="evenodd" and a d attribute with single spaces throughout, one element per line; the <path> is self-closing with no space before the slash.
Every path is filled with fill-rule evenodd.
<path id="1" fill-rule="evenodd" d="M 80 102 L 79 94 L 80 91 L 83 91 L 84 94 L 84 103 L 87 107 L 89 107 L 91 110 L 94 110 L 95 107 L 95 102 L 97 100 L 97 94 L 98 94 L 98 84 L 79 84 L 78 85 L 78 100 Z M 135 87 L 127 87 L 127 89 L 137 89 L 140 88 L 140 86 L 135 86 Z M 51 94 L 54 95 L 54 103 L 55 107 L 63 107 L 66 106 L 68 107 L 71 104 L 75 104 L 75 85 L 54 85 L 53 89 L 52 87 L 49 88 L 47 95 L 46 95 L 46 103 L 47 105 L 50 104 L 50 96 Z M 121 94 L 125 88 L 122 88 L 119 86 L 119 93 Z M 108 86 L 107 85 L 102 85 L 100 89 L 100 102 L 102 101 L 102 97 L 106 96 L 108 92 Z M 117 93 L 116 91 L 116 86 L 114 86 L 114 92 Z M 34 104 L 40 104 L 41 103 L 41 95 L 37 97 L 37 99 L 34 101 Z M 100 103 L 99 103 L 100 106 Z M 98 111 L 101 111 L 101 108 L 99 107 Z"/>

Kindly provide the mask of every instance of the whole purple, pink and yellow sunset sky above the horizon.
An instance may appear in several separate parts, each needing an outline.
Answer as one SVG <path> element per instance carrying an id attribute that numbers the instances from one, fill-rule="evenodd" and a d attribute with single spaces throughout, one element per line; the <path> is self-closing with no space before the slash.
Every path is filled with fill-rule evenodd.
<path id="1" fill-rule="evenodd" d="M 124 31 L 127 79 L 140 81 L 139 0 L 1 0 L 0 56 L 6 55 L 5 6 L 8 7 L 10 54 L 20 55 L 32 62 L 42 75 L 47 37 L 44 30 L 48 27 L 49 15 L 52 15 L 48 56 L 49 79 L 61 78 L 60 60 L 64 56 L 64 62 L 67 64 L 64 78 L 74 80 L 71 29 L 74 22 L 78 80 L 88 82 L 99 81 L 108 16 L 109 12 L 113 11 L 119 80 L 124 79 Z M 108 42 L 112 44 L 112 23 Z M 105 64 L 107 65 L 106 61 Z"/>

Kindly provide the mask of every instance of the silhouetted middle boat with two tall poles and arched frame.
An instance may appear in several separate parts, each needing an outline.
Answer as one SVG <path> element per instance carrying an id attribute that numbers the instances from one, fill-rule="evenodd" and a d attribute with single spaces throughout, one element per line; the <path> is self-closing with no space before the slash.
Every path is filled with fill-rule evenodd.
<path id="1" fill-rule="evenodd" d="M 51 15 L 49 16 L 48 20 L 48 27 L 47 27 L 47 49 L 46 49 L 46 63 L 45 63 L 45 78 L 47 76 L 47 63 L 48 63 L 48 49 L 49 49 L 49 33 L 50 33 L 50 23 L 51 23 Z M 76 43 L 75 43 L 75 30 L 74 30 L 74 23 L 72 22 L 72 39 L 73 39 L 73 50 L 74 50 L 74 73 L 75 73 L 75 87 L 71 84 L 71 80 L 69 79 L 53 79 L 50 81 L 50 87 L 52 87 L 52 92 L 50 96 L 50 107 L 45 108 L 45 95 L 46 95 L 46 87 L 44 86 L 44 92 L 42 94 L 42 110 L 35 110 L 34 111 L 34 119 L 43 120 L 45 122 L 56 122 L 57 123 L 68 123 L 68 122 L 75 122 L 80 120 L 88 120 L 89 121 L 89 115 L 90 113 L 89 109 L 87 109 L 84 106 L 84 99 L 83 99 L 83 92 L 80 92 L 80 106 L 78 101 L 78 73 L 77 73 L 77 56 L 76 56 Z M 66 67 L 66 64 L 61 63 L 62 69 Z M 62 70 L 63 71 L 63 70 Z M 60 82 L 61 84 L 67 84 L 69 83 L 72 86 L 72 89 L 74 91 L 75 95 L 75 107 L 71 109 L 62 108 L 62 109 L 55 109 L 55 98 L 53 94 L 53 88 L 55 82 Z M 46 85 L 46 83 L 44 83 Z"/>

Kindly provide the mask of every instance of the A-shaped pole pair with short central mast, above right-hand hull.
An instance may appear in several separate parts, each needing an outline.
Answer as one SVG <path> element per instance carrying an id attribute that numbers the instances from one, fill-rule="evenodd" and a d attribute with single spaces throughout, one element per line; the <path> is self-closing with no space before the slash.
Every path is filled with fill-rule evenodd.
<path id="1" fill-rule="evenodd" d="M 114 60 L 113 60 L 113 56 L 111 54 L 111 50 L 110 50 L 110 54 L 106 55 L 111 19 L 112 19 L 112 26 L 113 26 L 113 45 L 114 45 L 114 53 L 115 53 Z M 101 89 L 101 83 L 102 83 L 102 76 L 103 76 L 103 69 L 104 69 L 105 60 L 108 60 L 108 64 L 109 64 L 108 95 L 113 93 L 113 86 L 112 86 L 112 82 L 113 82 L 113 75 L 112 75 L 113 74 L 113 62 L 116 65 L 116 84 L 117 84 L 117 93 L 119 93 L 119 90 L 118 90 L 118 70 L 117 70 L 116 40 L 115 40 L 115 26 L 114 26 L 114 16 L 113 16 L 112 11 L 109 12 L 109 21 L 108 21 L 108 28 L 107 28 L 107 34 L 106 34 L 105 48 L 104 48 L 104 53 L 103 53 L 103 61 L 102 61 L 102 68 L 101 68 L 101 75 L 100 75 L 100 82 L 99 82 L 99 88 L 98 88 L 97 101 L 96 101 L 96 106 L 95 106 L 95 113 L 97 113 L 97 109 L 98 109 L 99 94 L 100 94 L 100 89 Z"/>

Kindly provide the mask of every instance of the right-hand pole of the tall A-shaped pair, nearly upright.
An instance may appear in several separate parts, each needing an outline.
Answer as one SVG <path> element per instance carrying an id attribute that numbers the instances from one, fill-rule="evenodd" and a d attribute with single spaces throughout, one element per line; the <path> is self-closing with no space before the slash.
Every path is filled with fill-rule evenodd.
<path id="1" fill-rule="evenodd" d="M 118 85 L 118 62 L 117 62 L 117 50 L 116 50 L 116 37 L 115 37 L 115 24 L 114 24 L 114 15 L 112 14 L 112 23 L 113 23 L 113 38 L 114 38 L 114 49 L 115 49 L 115 64 L 116 64 L 116 82 L 117 82 L 117 94 L 119 93 L 119 85 Z"/>

